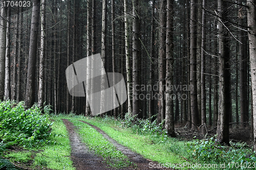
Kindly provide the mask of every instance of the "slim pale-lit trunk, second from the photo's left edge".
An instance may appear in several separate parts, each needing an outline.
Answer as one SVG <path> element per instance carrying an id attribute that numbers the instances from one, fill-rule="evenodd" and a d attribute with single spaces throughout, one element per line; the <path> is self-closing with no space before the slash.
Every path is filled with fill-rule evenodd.
<path id="1" fill-rule="evenodd" d="M 11 41 L 11 9 L 7 8 L 7 25 L 6 25 L 6 57 L 5 57 L 5 99 L 11 99 L 11 54 L 10 54 L 10 41 Z"/>

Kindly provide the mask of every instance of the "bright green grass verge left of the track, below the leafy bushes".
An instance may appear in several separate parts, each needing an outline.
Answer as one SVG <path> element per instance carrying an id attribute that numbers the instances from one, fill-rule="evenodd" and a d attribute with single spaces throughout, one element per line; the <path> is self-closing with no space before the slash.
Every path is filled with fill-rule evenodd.
<path id="1" fill-rule="evenodd" d="M 33 161 L 32 168 L 34 169 L 70 169 L 75 170 L 70 159 L 71 147 L 68 138 L 68 132 L 62 120 L 54 118 L 52 125 L 52 134 L 49 138 L 51 143 L 45 144 L 42 147 L 30 147 L 25 151 L 12 152 L 7 157 L 11 162 L 28 163 Z"/>

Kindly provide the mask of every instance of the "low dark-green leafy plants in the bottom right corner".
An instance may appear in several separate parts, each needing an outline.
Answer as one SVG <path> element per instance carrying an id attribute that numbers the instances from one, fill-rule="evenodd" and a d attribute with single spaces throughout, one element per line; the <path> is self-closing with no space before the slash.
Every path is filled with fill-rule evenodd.
<path id="1" fill-rule="evenodd" d="M 218 144 L 215 142 L 214 137 L 211 137 L 187 143 L 187 147 L 190 159 L 216 164 L 229 162 L 228 169 L 245 169 L 246 166 L 255 163 L 255 153 L 251 154 L 251 149 L 245 146 L 245 144 L 232 142 L 230 144 L 230 147 Z M 241 147 L 241 145 L 243 146 Z"/>

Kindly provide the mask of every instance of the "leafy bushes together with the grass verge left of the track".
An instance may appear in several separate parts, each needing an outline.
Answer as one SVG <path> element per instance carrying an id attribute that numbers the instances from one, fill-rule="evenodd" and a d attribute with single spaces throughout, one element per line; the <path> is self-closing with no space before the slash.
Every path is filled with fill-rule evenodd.
<path id="1" fill-rule="evenodd" d="M 50 111 L 45 106 L 42 115 L 36 104 L 0 102 L 0 169 L 19 169 L 12 162 L 33 169 L 74 169 L 66 127 L 61 120 L 52 122 Z M 20 152 L 7 150 L 12 146 Z"/>

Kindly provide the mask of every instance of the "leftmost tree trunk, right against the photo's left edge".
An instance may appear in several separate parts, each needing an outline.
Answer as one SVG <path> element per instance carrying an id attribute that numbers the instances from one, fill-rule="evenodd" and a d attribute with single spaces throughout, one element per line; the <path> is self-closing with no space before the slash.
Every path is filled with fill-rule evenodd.
<path id="1" fill-rule="evenodd" d="M 1 3 L 0 10 L 0 101 L 4 100 L 5 95 L 5 53 L 6 53 L 6 11 Z"/>

